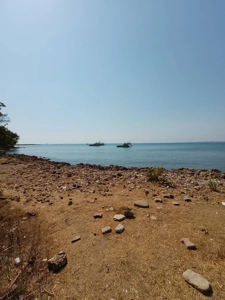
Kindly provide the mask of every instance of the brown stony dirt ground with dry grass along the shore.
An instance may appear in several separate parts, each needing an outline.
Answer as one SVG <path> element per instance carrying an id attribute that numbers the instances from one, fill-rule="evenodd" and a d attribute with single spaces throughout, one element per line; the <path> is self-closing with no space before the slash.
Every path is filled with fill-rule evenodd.
<path id="1" fill-rule="evenodd" d="M 209 188 L 210 181 L 216 182 L 216 191 Z M 48 234 L 48 257 L 39 259 L 66 252 L 67 265 L 58 273 L 47 273 L 45 289 L 50 295 L 38 294 L 36 299 L 225 299 L 224 172 L 170 170 L 154 183 L 147 181 L 146 168 L 69 165 L 8 154 L 0 157 L 0 189 L 0 225 L 6 209 L 17 209 L 22 226 L 38 220 Z M 158 197 L 163 204 L 155 202 Z M 139 199 L 147 200 L 149 208 L 135 207 Z M 126 207 L 135 218 L 121 221 L 125 230 L 116 234 L 113 216 Z M 22 220 L 30 210 L 36 216 Z M 102 218 L 94 219 L 94 212 L 102 212 Z M 101 234 L 105 225 L 111 233 Z M 75 235 L 81 239 L 71 243 Z M 182 237 L 197 249 L 187 250 Z M 186 283 L 186 269 L 202 274 L 212 294 L 205 296 Z M 0 291 L 3 288 L 0 283 Z"/>

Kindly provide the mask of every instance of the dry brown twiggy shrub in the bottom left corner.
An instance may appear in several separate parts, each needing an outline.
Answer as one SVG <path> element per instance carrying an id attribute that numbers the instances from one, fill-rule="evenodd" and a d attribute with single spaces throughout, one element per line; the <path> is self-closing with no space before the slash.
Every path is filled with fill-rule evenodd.
<path id="1" fill-rule="evenodd" d="M 44 286 L 49 282 L 42 260 L 49 258 L 47 230 L 36 217 L 22 222 L 24 213 L 7 206 L 0 209 L 0 299 L 13 283 L 16 288 L 5 299 L 45 299 Z M 20 259 L 18 266 L 16 257 Z"/>

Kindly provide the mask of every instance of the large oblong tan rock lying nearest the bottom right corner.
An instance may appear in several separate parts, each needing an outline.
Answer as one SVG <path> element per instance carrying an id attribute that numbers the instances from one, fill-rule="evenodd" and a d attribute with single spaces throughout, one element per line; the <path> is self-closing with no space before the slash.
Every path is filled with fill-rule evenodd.
<path id="1" fill-rule="evenodd" d="M 191 284 L 194 288 L 202 293 L 206 293 L 212 289 L 208 280 L 190 269 L 187 269 L 185 272 L 183 272 L 183 278 L 187 283 Z"/>

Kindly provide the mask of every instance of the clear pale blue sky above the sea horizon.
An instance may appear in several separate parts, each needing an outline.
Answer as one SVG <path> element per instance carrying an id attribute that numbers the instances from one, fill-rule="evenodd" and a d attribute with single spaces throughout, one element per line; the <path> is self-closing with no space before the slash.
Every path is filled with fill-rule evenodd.
<path id="1" fill-rule="evenodd" d="M 224 0 L 1 0 L 22 143 L 225 140 Z"/>

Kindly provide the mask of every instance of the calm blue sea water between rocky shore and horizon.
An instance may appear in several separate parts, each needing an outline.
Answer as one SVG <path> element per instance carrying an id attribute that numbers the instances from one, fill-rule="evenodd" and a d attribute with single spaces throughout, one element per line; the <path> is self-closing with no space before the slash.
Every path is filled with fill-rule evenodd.
<path id="1" fill-rule="evenodd" d="M 225 171 L 225 142 L 134 143 L 129 148 L 116 144 L 90 147 L 86 144 L 28 145 L 10 151 L 66 161 L 127 167 L 163 166 L 166 169 L 187 167 L 217 168 Z"/>

